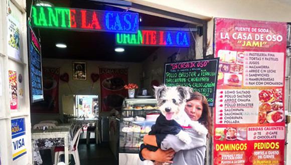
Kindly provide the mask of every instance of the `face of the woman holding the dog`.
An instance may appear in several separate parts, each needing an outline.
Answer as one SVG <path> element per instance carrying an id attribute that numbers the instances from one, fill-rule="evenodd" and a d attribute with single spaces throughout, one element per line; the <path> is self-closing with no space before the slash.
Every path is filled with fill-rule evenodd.
<path id="1" fill-rule="evenodd" d="M 191 120 L 197 121 L 201 117 L 203 111 L 202 101 L 198 99 L 192 99 L 186 102 L 185 111 Z"/>

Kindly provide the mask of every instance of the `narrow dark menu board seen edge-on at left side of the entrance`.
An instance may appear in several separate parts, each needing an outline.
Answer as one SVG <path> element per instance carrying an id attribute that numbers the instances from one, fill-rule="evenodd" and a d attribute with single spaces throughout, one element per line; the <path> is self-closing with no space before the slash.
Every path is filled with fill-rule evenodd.
<path id="1" fill-rule="evenodd" d="M 41 44 L 32 27 L 29 27 L 29 29 L 29 74 L 31 101 L 37 102 L 44 100 Z"/>

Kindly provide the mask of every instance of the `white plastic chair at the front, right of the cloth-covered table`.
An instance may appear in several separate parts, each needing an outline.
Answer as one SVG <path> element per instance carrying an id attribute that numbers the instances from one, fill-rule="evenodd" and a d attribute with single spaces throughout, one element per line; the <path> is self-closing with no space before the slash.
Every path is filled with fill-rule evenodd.
<path id="1" fill-rule="evenodd" d="M 73 144 L 72 148 L 69 149 L 69 154 L 72 154 L 75 160 L 76 165 L 80 165 L 80 157 L 78 152 L 78 144 L 80 139 L 82 127 L 80 127 L 73 138 Z M 63 146 L 57 146 L 55 147 L 55 164 L 57 164 L 60 160 L 60 155 L 65 154 L 65 147 Z"/>

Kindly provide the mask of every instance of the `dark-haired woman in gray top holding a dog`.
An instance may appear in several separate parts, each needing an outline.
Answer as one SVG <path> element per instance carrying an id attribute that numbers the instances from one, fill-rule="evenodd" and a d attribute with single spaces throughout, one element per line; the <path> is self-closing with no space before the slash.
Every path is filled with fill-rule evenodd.
<path id="1" fill-rule="evenodd" d="M 208 134 L 212 134 L 211 112 L 207 99 L 201 93 L 195 91 L 190 93 L 185 111 L 191 120 L 199 121 L 208 129 Z M 140 148 L 140 158 L 168 162 L 173 164 L 204 164 L 206 139 L 204 134 L 198 134 L 193 129 L 186 129 L 192 138 L 191 144 L 181 141 L 176 135 L 168 134 L 163 141 L 159 141 L 156 135 L 145 135 L 143 142 L 160 146 L 162 149 L 150 151 L 147 148 Z"/>

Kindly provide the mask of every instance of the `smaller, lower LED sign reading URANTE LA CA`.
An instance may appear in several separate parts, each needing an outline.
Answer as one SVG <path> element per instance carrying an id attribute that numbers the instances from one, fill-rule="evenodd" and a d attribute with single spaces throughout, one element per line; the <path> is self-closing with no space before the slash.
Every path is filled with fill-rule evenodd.
<path id="1" fill-rule="evenodd" d="M 116 33 L 116 44 L 142 46 L 190 46 L 189 31 L 138 30 L 137 34 Z"/>

